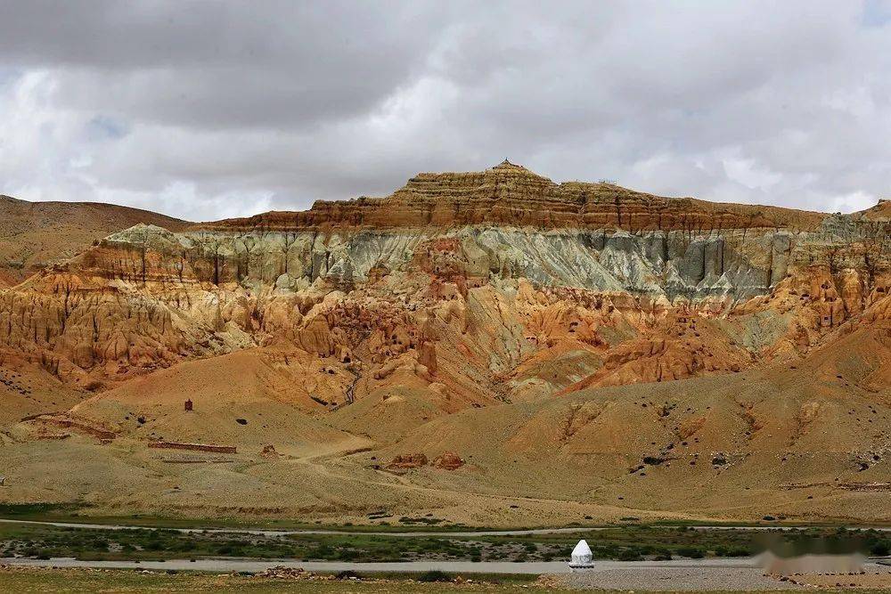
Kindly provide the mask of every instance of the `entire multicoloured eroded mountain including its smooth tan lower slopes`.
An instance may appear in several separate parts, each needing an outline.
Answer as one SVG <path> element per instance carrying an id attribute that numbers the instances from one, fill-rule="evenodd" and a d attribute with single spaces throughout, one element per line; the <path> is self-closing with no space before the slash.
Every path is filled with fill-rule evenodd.
<path id="1" fill-rule="evenodd" d="M 0 500 L 878 520 L 888 205 L 666 198 L 504 161 L 305 212 L 139 221 L 0 289 Z"/>

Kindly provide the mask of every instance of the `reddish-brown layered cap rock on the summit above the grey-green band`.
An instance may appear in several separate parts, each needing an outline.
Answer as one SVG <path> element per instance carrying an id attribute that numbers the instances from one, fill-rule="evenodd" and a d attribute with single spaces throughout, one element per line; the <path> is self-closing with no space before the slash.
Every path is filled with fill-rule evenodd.
<path id="1" fill-rule="evenodd" d="M 419 174 L 387 198 L 318 201 L 305 212 L 269 212 L 199 224 L 219 231 L 418 228 L 507 224 L 709 232 L 764 227 L 813 231 L 825 215 L 788 208 L 664 198 L 612 183 L 553 183 L 504 161 L 477 173 Z"/>

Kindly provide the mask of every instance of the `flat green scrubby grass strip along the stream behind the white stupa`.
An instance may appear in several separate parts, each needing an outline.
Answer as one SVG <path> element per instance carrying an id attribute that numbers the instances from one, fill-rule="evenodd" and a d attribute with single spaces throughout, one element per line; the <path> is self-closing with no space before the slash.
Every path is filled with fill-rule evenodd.
<path id="1" fill-rule="evenodd" d="M 398 536 L 387 534 L 180 533 L 167 529 L 104 530 L 19 523 L 0 524 L 0 557 L 76 557 L 84 560 L 163 560 L 208 557 L 385 562 L 553 561 L 569 557 L 579 538 L 600 559 L 745 557 L 771 534 L 745 529 L 699 531 L 690 527 L 629 525 L 590 533 L 511 536 Z M 776 533 L 786 541 L 841 540 L 840 529 Z M 862 548 L 887 554 L 891 535 L 858 533 Z"/>

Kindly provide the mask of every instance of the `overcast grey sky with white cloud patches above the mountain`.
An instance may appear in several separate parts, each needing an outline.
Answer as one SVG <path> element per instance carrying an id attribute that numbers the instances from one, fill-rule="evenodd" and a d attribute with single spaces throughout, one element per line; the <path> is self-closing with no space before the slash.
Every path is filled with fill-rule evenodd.
<path id="1" fill-rule="evenodd" d="M 0 0 L 0 193 L 208 220 L 505 158 L 870 207 L 891 2 Z"/>

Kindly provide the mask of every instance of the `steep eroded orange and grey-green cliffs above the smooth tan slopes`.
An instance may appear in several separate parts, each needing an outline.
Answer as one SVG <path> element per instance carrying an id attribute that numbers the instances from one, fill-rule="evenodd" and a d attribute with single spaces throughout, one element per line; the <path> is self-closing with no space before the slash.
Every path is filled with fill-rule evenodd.
<path id="1" fill-rule="evenodd" d="M 510 163 L 383 199 L 110 235 L 0 293 L 0 350 L 102 390 L 287 345 L 443 410 L 794 359 L 891 288 L 881 205 L 852 216 L 552 183 Z M 302 356 L 302 355 L 301 355 Z M 324 371 L 327 372 L 327 371 Z"/>

